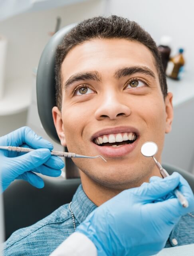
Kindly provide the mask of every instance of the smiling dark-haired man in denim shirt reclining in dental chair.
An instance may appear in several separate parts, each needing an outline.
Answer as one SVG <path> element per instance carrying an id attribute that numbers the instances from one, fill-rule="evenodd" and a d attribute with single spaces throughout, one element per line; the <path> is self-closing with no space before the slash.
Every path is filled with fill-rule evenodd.
<path id="1" fill-rule="evenodd" d="M 145 141 L 158 145 L 171 130 L 172 93 L 156 44 L 138 24 L 111 16 L 85 20 L 65 36 L 56 56 L 53 120 L 61 145 L 101 159 L 73 159 L 82 186 L 72 203 L 15 232 L 5 255 L 48 255 L 97 207 L 160 173 L 143 157 Z M 193 214 L 181 218 L 165 247 L 194 242 Z M 148 230 L 147 230 L 148 232 Z"/>

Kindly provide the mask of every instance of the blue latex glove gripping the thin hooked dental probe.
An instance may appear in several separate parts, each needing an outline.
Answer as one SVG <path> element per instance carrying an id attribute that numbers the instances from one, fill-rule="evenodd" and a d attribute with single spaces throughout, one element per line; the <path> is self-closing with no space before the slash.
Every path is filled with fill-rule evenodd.
<path id="1" fill-rule="evenodd" d="M 3 191 L 14 179 L 24 179 L 35 187 L 44 187 L 43 179 L 33 172 L 51 177 L 61 175 L 64 163 L 59 157 L 51 156 L 53 145 L 29 127 L 22 127 L 0 137 L 0 145 L 36 149 L 28 153 L 0 150 L 0 182 Z"/>

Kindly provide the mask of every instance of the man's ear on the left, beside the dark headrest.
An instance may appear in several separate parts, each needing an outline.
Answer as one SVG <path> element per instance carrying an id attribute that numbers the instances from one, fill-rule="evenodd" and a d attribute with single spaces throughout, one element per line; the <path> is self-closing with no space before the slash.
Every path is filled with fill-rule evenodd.
<path id="1" fill-rule="evenodd" d="M 52 109 L 53 121 L 55 124 L 55 129 L 57 131 L 57 135 L 61 141 L 61 145 L 66 147 L 65 133 L 63 127 L 63 121 L 61 117 L 61 111 L 57 107 L 53 107 Z"/>

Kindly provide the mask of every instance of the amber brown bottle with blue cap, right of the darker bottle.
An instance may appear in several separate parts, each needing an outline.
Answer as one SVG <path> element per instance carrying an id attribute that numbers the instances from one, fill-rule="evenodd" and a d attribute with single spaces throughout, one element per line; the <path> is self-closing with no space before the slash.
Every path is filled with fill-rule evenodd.
<path id="1" fill-rule="evenodd" d="M 180 77 L 180 72 L 185 63 L 182 53 L 183 53 L 183 49 L 180 48 L 179 53 L 173 58 L 170 58 L 170 61 L 168 62 L 166 75 L 172 79 L 178 80 Z"/>

